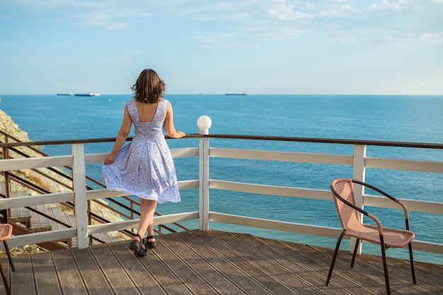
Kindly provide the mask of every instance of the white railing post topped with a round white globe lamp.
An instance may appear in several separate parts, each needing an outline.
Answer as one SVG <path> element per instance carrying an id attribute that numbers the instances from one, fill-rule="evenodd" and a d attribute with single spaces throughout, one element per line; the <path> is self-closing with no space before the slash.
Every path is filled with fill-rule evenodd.
<path id="1" fill-rule="evenodd" d="M 199 134 L 209 134 L 212 125 L 210 117 L 203 115 L 197 119 Z M 209 230 L 209 138 L 200 137 L 198 145 L 199 158 L 199 228 Z"/>

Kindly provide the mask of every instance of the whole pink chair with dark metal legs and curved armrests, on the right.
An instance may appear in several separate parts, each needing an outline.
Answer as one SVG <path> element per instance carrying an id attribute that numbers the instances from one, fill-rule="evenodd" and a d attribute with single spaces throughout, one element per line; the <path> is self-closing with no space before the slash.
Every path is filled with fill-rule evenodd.
<path id="1" fill-rule="evenodd" d="M 379 192 L 381 195 L 384 195 L 385 197 L 391 199 L 393 202 L 399 204 L 403 208 L 403 212 L 405 215 L 406 229 L 391 229 L 388 227 L 381 226 L 381 222 L 379 221 L 379 219 L 376 218 L 376 216 L 357 207 L 353 183 L 369 187 L 370 189 Z M 335 258 L 337 258 L 338 248 L 340 248 L 340 242 L 342 241 L 344 236 L 357 238 L 357 242 L 355 243 L 354 253 L 352 255 L 351 267 L 354 267 L 355 255 L 357 253 L 357 248 L 360 240 L 377 243 L 381 246 L 381 256 L 383 258 L 383 267 L 384 267 L 384 278 L 386 281 L 386 291 L 388 295 L 391 294 L 391 289 L 389 287 L 389 276 L 388 276 L 388 267 L 386 266 L 385 251 L 391 247 L 402 248 L 405 245 L 408 245 L 410 268 L 413 275 L 413 283 L 417 284 L 415 280 L 413 249 L 411 244 L 413 238 L 415 237 L 415 234 L 409 229 L 408 209 L 406 208 L 405 204 L 403 204 L 403 202 L 401 202 L 399 199 L 396 199 L 391 195 L 388 195 L 386 192 L 380 190 L 377 187 L 374 187 L 367 183 L 362 183 L 361 181 L 358 180 L 352 180 L 350 178 L 338 178 L 333 180 L 330 183 L 330 190 L 333 192 L 335 208 L 337 209 L 338 217 L 340 219 L 343 232 L 340 234 L 340 237 L 338 238 L 337 241 L 337 245 L 335 246 L 333 260 L 329 268 L 328 279 L 326 279 L 326 286 L 328 286 L 329 284 L 330 276 L 333 272 Z M 369 217 L 370 219 L 374 220 L 376 225 L 363 224 L 362 220 L 360 219 L 359 213 L 362 213 L 365 216 Z"/>

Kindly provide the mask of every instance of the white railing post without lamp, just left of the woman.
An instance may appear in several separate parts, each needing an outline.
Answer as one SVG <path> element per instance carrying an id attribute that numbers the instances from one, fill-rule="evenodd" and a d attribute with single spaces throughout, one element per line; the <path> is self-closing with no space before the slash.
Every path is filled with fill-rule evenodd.
<path id="1" fill-rule="evenodd" d="M 72 179 L 74 183 L 74 203 L 76 238 L 79 249 L 88 248 L 88 205 L 86 200 L 86 166 L 84 144 L 72 144 Z"/>

